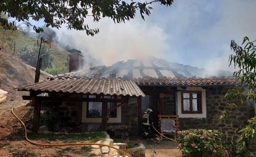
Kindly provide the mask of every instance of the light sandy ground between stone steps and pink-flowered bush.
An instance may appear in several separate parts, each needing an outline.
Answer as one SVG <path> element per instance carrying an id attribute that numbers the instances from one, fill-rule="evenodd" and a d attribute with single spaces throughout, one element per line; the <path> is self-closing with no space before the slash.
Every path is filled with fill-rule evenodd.
<path id="1" fill-rule="evenodd" d="M 146 157 L 153 155 L 151 146 L 153 141 L 151 139 L 142 139 L 144 146 L 146 147 Z M 177 143 L 167 139 L 163 139 L 157 146 L 155 157 L 181 157 L 180 150 L 177 149 Z"/>

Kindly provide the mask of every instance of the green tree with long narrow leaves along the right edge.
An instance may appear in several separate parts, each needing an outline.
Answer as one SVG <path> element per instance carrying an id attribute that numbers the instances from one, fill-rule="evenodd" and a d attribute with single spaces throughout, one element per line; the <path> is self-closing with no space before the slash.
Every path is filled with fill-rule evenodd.
<path id="1" fill-rule="evenodd" d="M 235 86 L 235 88 L 229 90 L 225 98 L 228 101 L 229 106 L 236 107 L 238 105 L 243 105 L 249 103 L 251 105 L 256 104 L 256 46 L 254 46 L 253 41 L 251 42 L 248 37 L 243 39 L 242 45 L 239 46 L 234 40 L 231 40 L 231 50 L 235 54 L 229 56 L 229 65 L 232 64 L 238 71 L 233 73 L 236 81 L 240 81 L 240 86 Z M 239 104 L 237 103 L 239 100 Z M 222 111 L 220 120 L 224 119 L 228 115 L 228 111 Z M 256 141 L 256 116 L 248 119 L 248 125 L 242 130 L 240 139 L 240 152 L 245 153 L 249 147 L 251 139 Z"/>

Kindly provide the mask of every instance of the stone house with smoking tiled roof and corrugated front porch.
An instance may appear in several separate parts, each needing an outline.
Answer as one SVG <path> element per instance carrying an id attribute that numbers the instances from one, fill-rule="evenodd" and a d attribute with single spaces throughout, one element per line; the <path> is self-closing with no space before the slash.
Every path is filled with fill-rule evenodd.
<path id="1" fill-rule="evenodd" d="M 140 135 L 140 119 L 146 108 L 151 108 L 154 124 L 158 124 L 159 115 L 172 115 L 178 119 L 180 130 L 220 130 L 228 146 L 238 139 L 237 131 L 247 119 L 255 115 L 254 107 L 246 104 L 231 109 L 223 123 L 218 121 L 220 111 L 227 108 L 225 93 L 240 84 L 233 77 L 185 77 L 168 67 L 150 64 L 118 62 L 111 67 L 49 77 L 18 90 L 30 91 L 23 99 L 34 104 L 35 132 L 43 101 L 57 106 L 63 124 L 101 123 L 103 131 L 107 131 L 107 125 L 126 125 L 130 136 Z M 141 77 L 133 77 L 136 75 Z M 40 93 L 48 96 L 37 96 Z"/>

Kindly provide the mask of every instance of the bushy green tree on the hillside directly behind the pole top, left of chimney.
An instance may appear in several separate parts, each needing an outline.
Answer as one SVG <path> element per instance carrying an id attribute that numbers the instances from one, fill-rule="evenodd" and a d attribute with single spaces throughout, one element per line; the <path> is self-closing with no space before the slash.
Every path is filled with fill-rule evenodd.
<path id="1" fill-rule="evenodd" d="M 39 47 L 34 46 L 25 46 L 21 49 L 20 53 L 17 53 L 17 56 L 21 58 L 26 64 L 36 67 L 37 66 L 37 57 L 38 57 Z M 41 69 L 52 68 L 53 50 L 48 49 L 47 47 L 41 47 L 40 57 L 43 58 L 43 64 Z"/>

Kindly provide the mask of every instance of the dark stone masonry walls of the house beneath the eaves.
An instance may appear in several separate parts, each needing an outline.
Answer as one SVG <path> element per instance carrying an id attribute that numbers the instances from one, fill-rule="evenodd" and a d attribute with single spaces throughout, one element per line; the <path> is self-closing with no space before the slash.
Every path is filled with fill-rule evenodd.
<path id="1" fill-rule="evenodd" d="M 229 150 L 234 150 L 235 142 L 239 138 L 238 131 L 247 124 L 247 119 L 255 115 L 254 107 L 249 104 L 238 106 L 230 110 L 230 115 L 224 122 L 218 120 L 220 112 L 227 109 L 228 105 L 224 98 L 226 92 L 232 89 L 234 85 L 215 85 L 215 86 L 139 86 L 145 93 L 145 97 L 141 98 L 141 111 L 138 109 L 137 98 L 127 105 L 123 105 L 117 110 L 116 118 L 109 118 L 108 125 L 126 125 L 128 126 L 126 135 L 136 136 L 140 130 L 138 119 L 143 115 L 145 108 L 151 108 L 149 101 L 154 101 L 158 106 L 158 111 L 154 113 L 159 115 L 178 115 L 180 122 L 180 130 L 190 128 L 203 128 L 219 130 L 222 134 L 222 142 Z M 152 93 L 152 91 L 154 91 Z M 181 113 L 181 92 L 182 91 L 202 91 L 200 99 L 202 99 L 202 113 L 200 114 L 182 114 Z M 163 92 L 162 98 L 160 93 Z M 73 97 L 79 97 L 79 95 Z M 87 97 L 84 95 L 83 97 Z M 160 102 L 162 101 L 162 102 Z M 162 104 L 162 110 L 159 108 Z M 81 108 L 82 106 L 82 108 Z M 86 108 L 85 102 L 62 102 L 59 104 L 59 115 L 61 115 L 62 123 L 73 122 L 82 123 L 101 123 L 100 118 L 90 119 L 84 114 Z M 139 112 L 140 114 L 139 114 Z M 86 120 L 85 120 L 86 119 Z M 127 134 L 128 133 L 128 134 Z M 251 151 L 252 155 L 255 155 Z"/>

